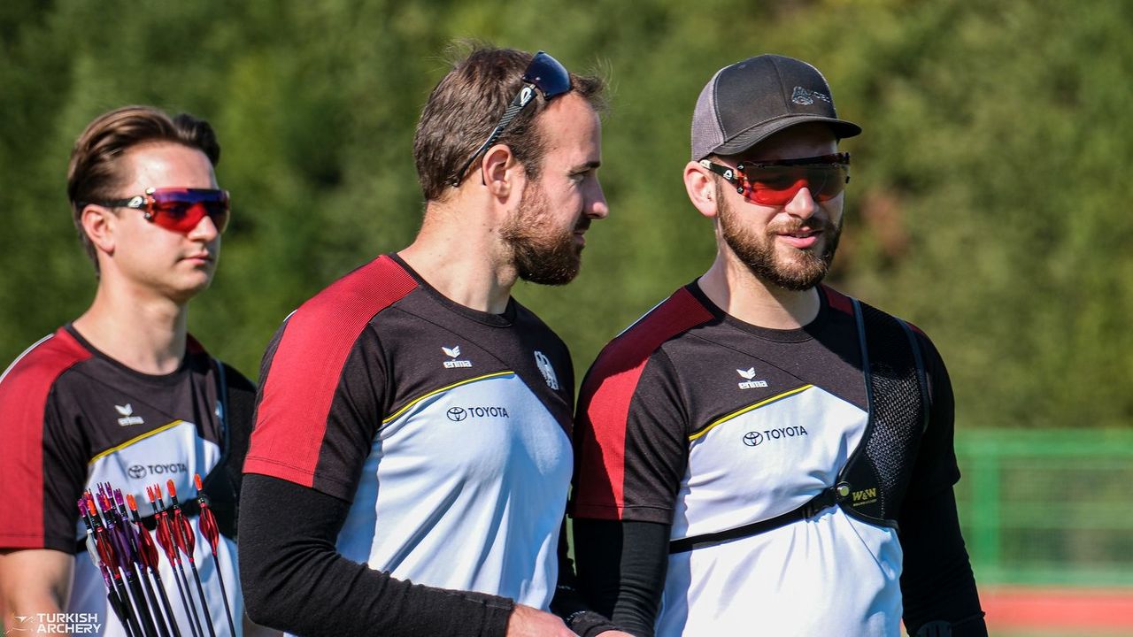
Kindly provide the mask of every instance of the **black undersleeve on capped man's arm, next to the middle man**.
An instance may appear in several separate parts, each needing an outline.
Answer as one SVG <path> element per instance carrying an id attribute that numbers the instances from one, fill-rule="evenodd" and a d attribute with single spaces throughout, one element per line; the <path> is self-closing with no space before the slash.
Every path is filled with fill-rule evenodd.
<path id="1" fill-rule="evenodd" d="M 590 606 L 638 637 L 653 637 L 668 567 L 670 525 L 574 520 L 579 588 Z"/>

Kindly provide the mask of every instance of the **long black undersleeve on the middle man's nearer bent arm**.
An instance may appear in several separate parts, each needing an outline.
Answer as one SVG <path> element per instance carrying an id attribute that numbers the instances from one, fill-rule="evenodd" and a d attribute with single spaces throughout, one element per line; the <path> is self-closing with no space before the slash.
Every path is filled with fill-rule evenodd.
<path id="1" fill-rule="evenodd" d="M 334 543 L 350 510 L 342 500 L 249 474 L 240 502 L 240 583 L 256 623 L 309 637 L 506 632 L 506 597 L 412 584 L 340 555 Z"/>

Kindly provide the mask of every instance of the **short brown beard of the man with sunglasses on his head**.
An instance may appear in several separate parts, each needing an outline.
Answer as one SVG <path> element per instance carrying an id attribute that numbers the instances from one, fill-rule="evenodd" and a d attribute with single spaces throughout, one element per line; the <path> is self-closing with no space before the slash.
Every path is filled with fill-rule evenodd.
<path id="1" fill-rule="evenodd" d="M 500 229 L 501 238 L 511 247 L 516 274 L 544 286 L 571 282 L 582 262 L 581 248 L 574 245 L 574 230 L 586 229 L 589 221 L 583 216 L 577 227 L 559 231 L 543 190 L 528 182 L 523 186 L 519 210 Z"/>

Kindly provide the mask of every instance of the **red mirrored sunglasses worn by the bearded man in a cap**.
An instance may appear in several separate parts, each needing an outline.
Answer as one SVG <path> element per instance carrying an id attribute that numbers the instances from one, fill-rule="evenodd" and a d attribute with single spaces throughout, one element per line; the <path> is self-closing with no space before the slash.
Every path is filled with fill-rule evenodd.
<path id="1" fill-rule="evenodd" d="M 786 205 L 803 188 L 816 202 L 829 201 L 850 182 L 850 153 L 741 162 L 735 168 L 700 160 L 700 165 L 733 184 L 743 198 L 760 205 Z"/>

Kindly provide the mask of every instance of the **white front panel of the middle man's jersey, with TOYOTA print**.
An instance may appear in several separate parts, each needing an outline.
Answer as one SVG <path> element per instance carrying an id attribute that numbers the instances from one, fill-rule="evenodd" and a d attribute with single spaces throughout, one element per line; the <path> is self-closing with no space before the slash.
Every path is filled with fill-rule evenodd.
<path id="1" fill-rule="evenodd" d="M 339 552 L 546 609 L 572 467 L 562 425 L 514 373 L 438 390 L 380 430 Z"/>

